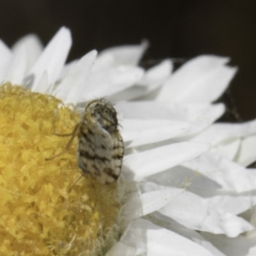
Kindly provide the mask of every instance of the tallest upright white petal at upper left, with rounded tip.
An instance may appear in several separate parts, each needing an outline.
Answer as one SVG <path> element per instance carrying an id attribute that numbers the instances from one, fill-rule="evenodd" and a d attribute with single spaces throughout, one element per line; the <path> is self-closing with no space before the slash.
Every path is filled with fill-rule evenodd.
<path id="1" fill-rule="evenodd" d="M 71 44 L 72 38 L 70 31 L 66 27 L 61 27 L 29 72 L 29 76 L 34 76 L 34 81 L 31 84 L 32 90 L 44 92 L 38 87 L 38 81 L 41 79 L 44 71 L 48 73 L 49 84 L 55 83 L 67 59 Z"/>

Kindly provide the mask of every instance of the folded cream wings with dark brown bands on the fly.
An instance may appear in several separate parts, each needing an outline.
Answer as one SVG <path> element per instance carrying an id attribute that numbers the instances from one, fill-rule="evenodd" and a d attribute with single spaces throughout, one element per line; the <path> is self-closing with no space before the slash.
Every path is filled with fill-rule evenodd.
<path id="1" fill-rule="evenodd" d="M 119 131 L 108 133 L 93 119 L 84 118 L 79 137 L 79 167 L 100 183 L 119 177 L 124 155 Z"/>

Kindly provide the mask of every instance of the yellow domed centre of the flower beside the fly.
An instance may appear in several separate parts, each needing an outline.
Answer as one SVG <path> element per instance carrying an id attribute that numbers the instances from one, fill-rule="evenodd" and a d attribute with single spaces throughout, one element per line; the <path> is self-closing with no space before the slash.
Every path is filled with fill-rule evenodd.
<path id="1" fill-rule="evenodd" d="M 79 114 L 53 96 L 11 84 L 0 87 L 0 113 L 0 254 L 96 252 L 119 210 L 116 184 L 88 175 L 68 193 L 80 174 L 77 140 L 67 153 L 45 160 L 69 140 L 54 132 L 72 132 Z"/>

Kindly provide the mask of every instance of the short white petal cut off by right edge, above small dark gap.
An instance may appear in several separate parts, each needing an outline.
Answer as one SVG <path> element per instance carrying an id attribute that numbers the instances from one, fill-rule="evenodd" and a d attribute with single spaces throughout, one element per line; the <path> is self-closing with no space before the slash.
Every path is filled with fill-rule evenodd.
<path id="1" fill-rule="evenodd" d="M 256 160 L 255 154 L 256 136 L 245 137 L 241 140 L 241 148 L 236 161 L 242 166 L 249 166 Z"/>

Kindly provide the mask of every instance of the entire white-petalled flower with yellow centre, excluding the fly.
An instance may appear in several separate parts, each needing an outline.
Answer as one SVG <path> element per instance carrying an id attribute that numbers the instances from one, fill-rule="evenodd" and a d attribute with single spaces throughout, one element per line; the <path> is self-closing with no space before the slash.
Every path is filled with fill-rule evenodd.
<path id="1" fill-rule="evenodd" d="M 229 59 L 202 55 L 174 73 L 170 60 L 144 70 L 143 42 L 65 64 L 71 44 L 65 27 L 45 49 L 32 35 L 13 49 L 0 42 L 0 138 L 12 147 L 0 160 L 0 252 L 253 255 L 256 242 L 244 234 L 254 227 L 242 213 L 256 204 L 256 172 L 245 167 L 256 160 L 255 121 L 213 124 L 225 109 L 212 102 L 236 73 Z M 115 183 L 89 176 L 67 193 L 79 173 L 74 145 L 61 160 L 44 160 L 67 144 L 54 129 L 67 133 L 78 122 L 45 94 L 76 108 L 94 98 L 116 102 L 125 142 L 118 202 Z"/>

